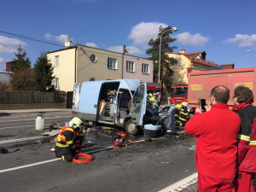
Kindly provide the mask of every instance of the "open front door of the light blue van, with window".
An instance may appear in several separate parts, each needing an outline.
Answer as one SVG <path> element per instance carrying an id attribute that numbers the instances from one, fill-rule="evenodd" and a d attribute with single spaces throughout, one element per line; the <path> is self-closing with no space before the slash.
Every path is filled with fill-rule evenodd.
<path id="1" fill-rule="evenodd" d="M 131 102 L 131 119 L 135 125 L 143 125 L 143 116 L 146 113 L 147 84 L 140 85 Z"/>

